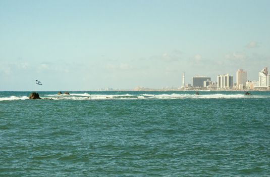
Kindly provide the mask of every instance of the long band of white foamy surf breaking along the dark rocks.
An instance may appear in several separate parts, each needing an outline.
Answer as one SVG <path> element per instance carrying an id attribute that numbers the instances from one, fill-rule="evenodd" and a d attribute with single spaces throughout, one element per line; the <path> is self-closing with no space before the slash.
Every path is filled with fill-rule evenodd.
<path id="1" fill-rule="evenodd" d="M 88 93 L 84 94 L 70 94 L 70 95 L 41 95 L 41 98 L 44 99 L 52 99 L 52 100 L 140 100 L 140 99 L 249 99 L 249 98 L 270 98 L 270 96 L 245 96 L 243 94 L 203 94 L 203 95 L 195 95 L 195 94 L 124 94 L 124 95 L 91 95 Z M 26 96 L 11 96 L 0 98 L 0 101 L 8 101 L 8 100 L 27 100 L 29 99 Z"/>

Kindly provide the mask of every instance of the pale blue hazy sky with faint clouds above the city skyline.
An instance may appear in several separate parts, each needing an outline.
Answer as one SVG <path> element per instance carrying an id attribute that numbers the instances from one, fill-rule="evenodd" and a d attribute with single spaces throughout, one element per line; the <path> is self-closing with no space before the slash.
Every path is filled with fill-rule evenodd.
<path id="1" fill-rule="evenodd" d="M 0 1 L 0 91 L 180 87 L 270 68 L 270 1 Z M 36 85 L 38 79 L 43 85 Z"/>

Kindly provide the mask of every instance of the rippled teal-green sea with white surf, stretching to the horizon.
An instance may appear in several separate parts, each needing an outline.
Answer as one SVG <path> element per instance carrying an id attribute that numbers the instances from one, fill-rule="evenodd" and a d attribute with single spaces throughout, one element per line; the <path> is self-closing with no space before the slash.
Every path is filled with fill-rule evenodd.
<path id="1" fill-rule="evenodd" d="M 0 176 L 270 176 L 270 92 L 0 92 Z"/>

